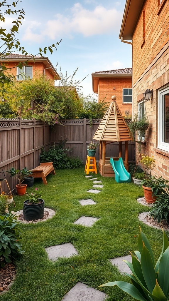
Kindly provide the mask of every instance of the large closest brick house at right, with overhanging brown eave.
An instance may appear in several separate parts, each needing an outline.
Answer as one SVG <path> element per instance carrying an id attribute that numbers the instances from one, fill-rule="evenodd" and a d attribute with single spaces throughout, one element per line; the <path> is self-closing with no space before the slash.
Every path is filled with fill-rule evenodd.
<path id="1" fill-rule="evenodd" d="M 168 0 L 127 0 L 119 38 L 132 42 L 133 114 L 144 102 L 149 119 L 142 152 L 154 156 L 154 174 L 169 180 L 169 9 Z M 138 157 L 138 154 L 137 154 Z"/>

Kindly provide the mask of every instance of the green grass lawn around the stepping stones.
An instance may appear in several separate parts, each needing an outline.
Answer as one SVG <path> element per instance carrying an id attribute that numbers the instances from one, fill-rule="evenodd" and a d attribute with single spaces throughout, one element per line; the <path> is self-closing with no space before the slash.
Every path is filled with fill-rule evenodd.
<path id="1" fill-rule="evenodd" d="M 139 213 L 149 211 L 148 207 L 137 203 L 137 198 L 143 196 L 143 189 L 133 183 L 116 183 L 114 178 L 97 174 L 104 187 L 99 194 L 91 194 L 86 191 L 92 188 L 93 182 L 84 175 L 84 168 L 56 170 L 56 176 L 48 175 L 48 185 L 35 179 L 33 188 L 27 188 L 28 192 L 34 188 L 42 190 L 45 207 L 54 209 L 56 214 L 45 222 L 20 225 L 25 253 L 15 260 L 14 284 L 0 300 L 60 301 L 78 281 L 96 289 L 109 281 L 129 281 L 109 259 L 137 250 L 139 225 L 150 241 L 155 259 L 158 258 L 162 231 L 138 220 Z M 97 205 L 81 206 L 78 202 L 88 198 Z M 26 195 L 15 196 L 16 207 L 10 209 L 23 209 L 24 200 Z M 92 227 L 74 225 L 80 216 L 100 220 Z M 68 242 L 79 255 L 51 262 L 45 247 Z M 133 300 L 118 287 L 99 289 L 109 296 L 107 301 Z"/>

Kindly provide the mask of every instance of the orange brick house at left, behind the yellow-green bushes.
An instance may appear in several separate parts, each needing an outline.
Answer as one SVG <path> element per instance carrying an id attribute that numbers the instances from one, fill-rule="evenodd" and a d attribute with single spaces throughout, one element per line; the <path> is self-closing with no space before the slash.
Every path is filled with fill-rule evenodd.
<path id="1" fill-rule="evenodd" d="M 27 61 L 27 64 L 24 62 Z M 49 61 L 48 57 L 35 56 L 22 54 L 9 54 L 2 61 L 5 62 L 5 66 L 10 68 L 10 72 L 16 77 L 17 81 L 25 80 L 28 77 L 33 78 L 36 75 L 47 76 L 48 79 L 60 79 L 60 76 L 56 72 L 54 66 Z M 18 67 L 18 64 L 22 63 L 23 67 Z"/>

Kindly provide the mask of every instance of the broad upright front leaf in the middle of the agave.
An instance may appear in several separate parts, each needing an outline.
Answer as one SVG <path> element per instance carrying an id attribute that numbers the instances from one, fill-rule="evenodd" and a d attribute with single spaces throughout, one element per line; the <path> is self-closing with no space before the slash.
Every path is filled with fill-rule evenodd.
<path id="1" fill-rule="evenodd" d="M 154 270 L 154 264 L 152 262 L 152 256 L 149 253 L 149 250 L 146 248 L 143 242 L 143 249 L 141 252 L 141 268 L 143 272 L 143 277 L 146 281 L 148 290 L 152 293 L 155 287 L 155 281 L 157 279 L 157 275 Z"/>

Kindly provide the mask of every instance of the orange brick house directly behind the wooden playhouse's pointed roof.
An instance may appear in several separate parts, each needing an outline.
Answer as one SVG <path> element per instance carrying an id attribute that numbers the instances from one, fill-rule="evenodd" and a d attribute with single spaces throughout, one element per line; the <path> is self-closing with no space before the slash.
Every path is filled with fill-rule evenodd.
<path id="1" fill-rule="evenodd" d="M 92 73 L 92 87 L 98 94 L 98 102 L 112 102 L 111 97 L 117 97 L 116 102 L 123 116 L 132 114 L 132 82 L 131 68 L 96 71 Z M 126 111 L 126 113 L 125 113 Z M 128 114 L 127 114 L 128 115 Z"/>

